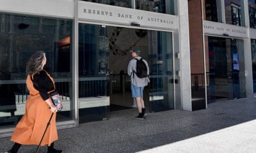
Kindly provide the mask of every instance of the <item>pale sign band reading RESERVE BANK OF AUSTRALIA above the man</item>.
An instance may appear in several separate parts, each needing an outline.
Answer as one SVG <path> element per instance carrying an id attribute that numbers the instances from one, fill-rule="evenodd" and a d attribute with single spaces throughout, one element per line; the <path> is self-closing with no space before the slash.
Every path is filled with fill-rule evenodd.
<path id="1" fill-rule="evenodd" d="M 92 21 L 102 23 L 114 23 L 131 25 L 140 24 L 140 27 L 177 29 L 178 17 L 141 11 L 138 9 L 110 6 L 106 4 L 78 2 L 78 21 Z"/>

